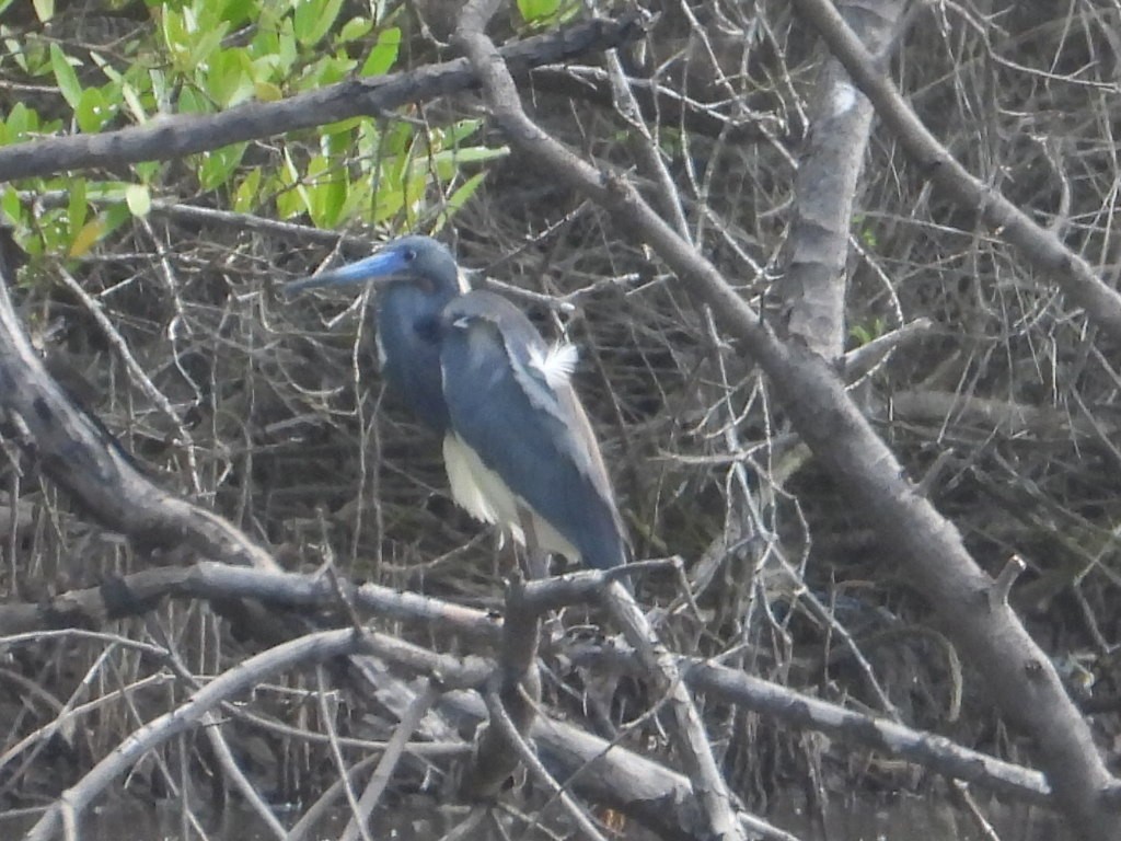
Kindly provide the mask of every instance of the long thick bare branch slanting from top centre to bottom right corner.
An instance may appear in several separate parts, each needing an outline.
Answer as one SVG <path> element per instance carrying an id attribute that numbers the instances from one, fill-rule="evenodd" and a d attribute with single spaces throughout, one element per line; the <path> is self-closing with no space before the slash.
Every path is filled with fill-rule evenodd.
<path id="1" fill-rule="evenodd" d="M 1010 609 L 985 607 L 992 580 L 966 552 L 956 529 L 916 492 L 835 372 L 821 357 L 779 342 L 716 268 L 677 237 L 629 182 L 601 174 L 534 124 L 488 41 L 473 38 L 466 44 L 469 54 L 510 142 L 537 172 L 584 193 L 620 228 L 649 244 L 756 358 L 806 443 L 895 548 L 916 589 L 930 599 L 956 644 L 988 677 L 1004 713 L 1036 740 L 1039 763 L 1077 829 L 1087 839 L 1112 841 L 1110 828 L 1121 820 L 1111 795 L 1117 780 L 1057 672 Z"/>

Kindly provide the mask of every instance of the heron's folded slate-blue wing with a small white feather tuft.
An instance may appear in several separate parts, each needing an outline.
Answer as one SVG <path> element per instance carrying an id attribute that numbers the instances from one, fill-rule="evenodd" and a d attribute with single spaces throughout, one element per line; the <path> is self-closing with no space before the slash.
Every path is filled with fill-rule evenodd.
<path id="1" fill-rule="evenodd" d="M 465 298 L 475 296 L 456 302 L 442 343 L 452 431 L 587 563 L 620 563 L 611 483 L 572 386 L 549 368 L 549 349 L 519 311 L 504 299 L 488 307 L 483 293 Z"/>

